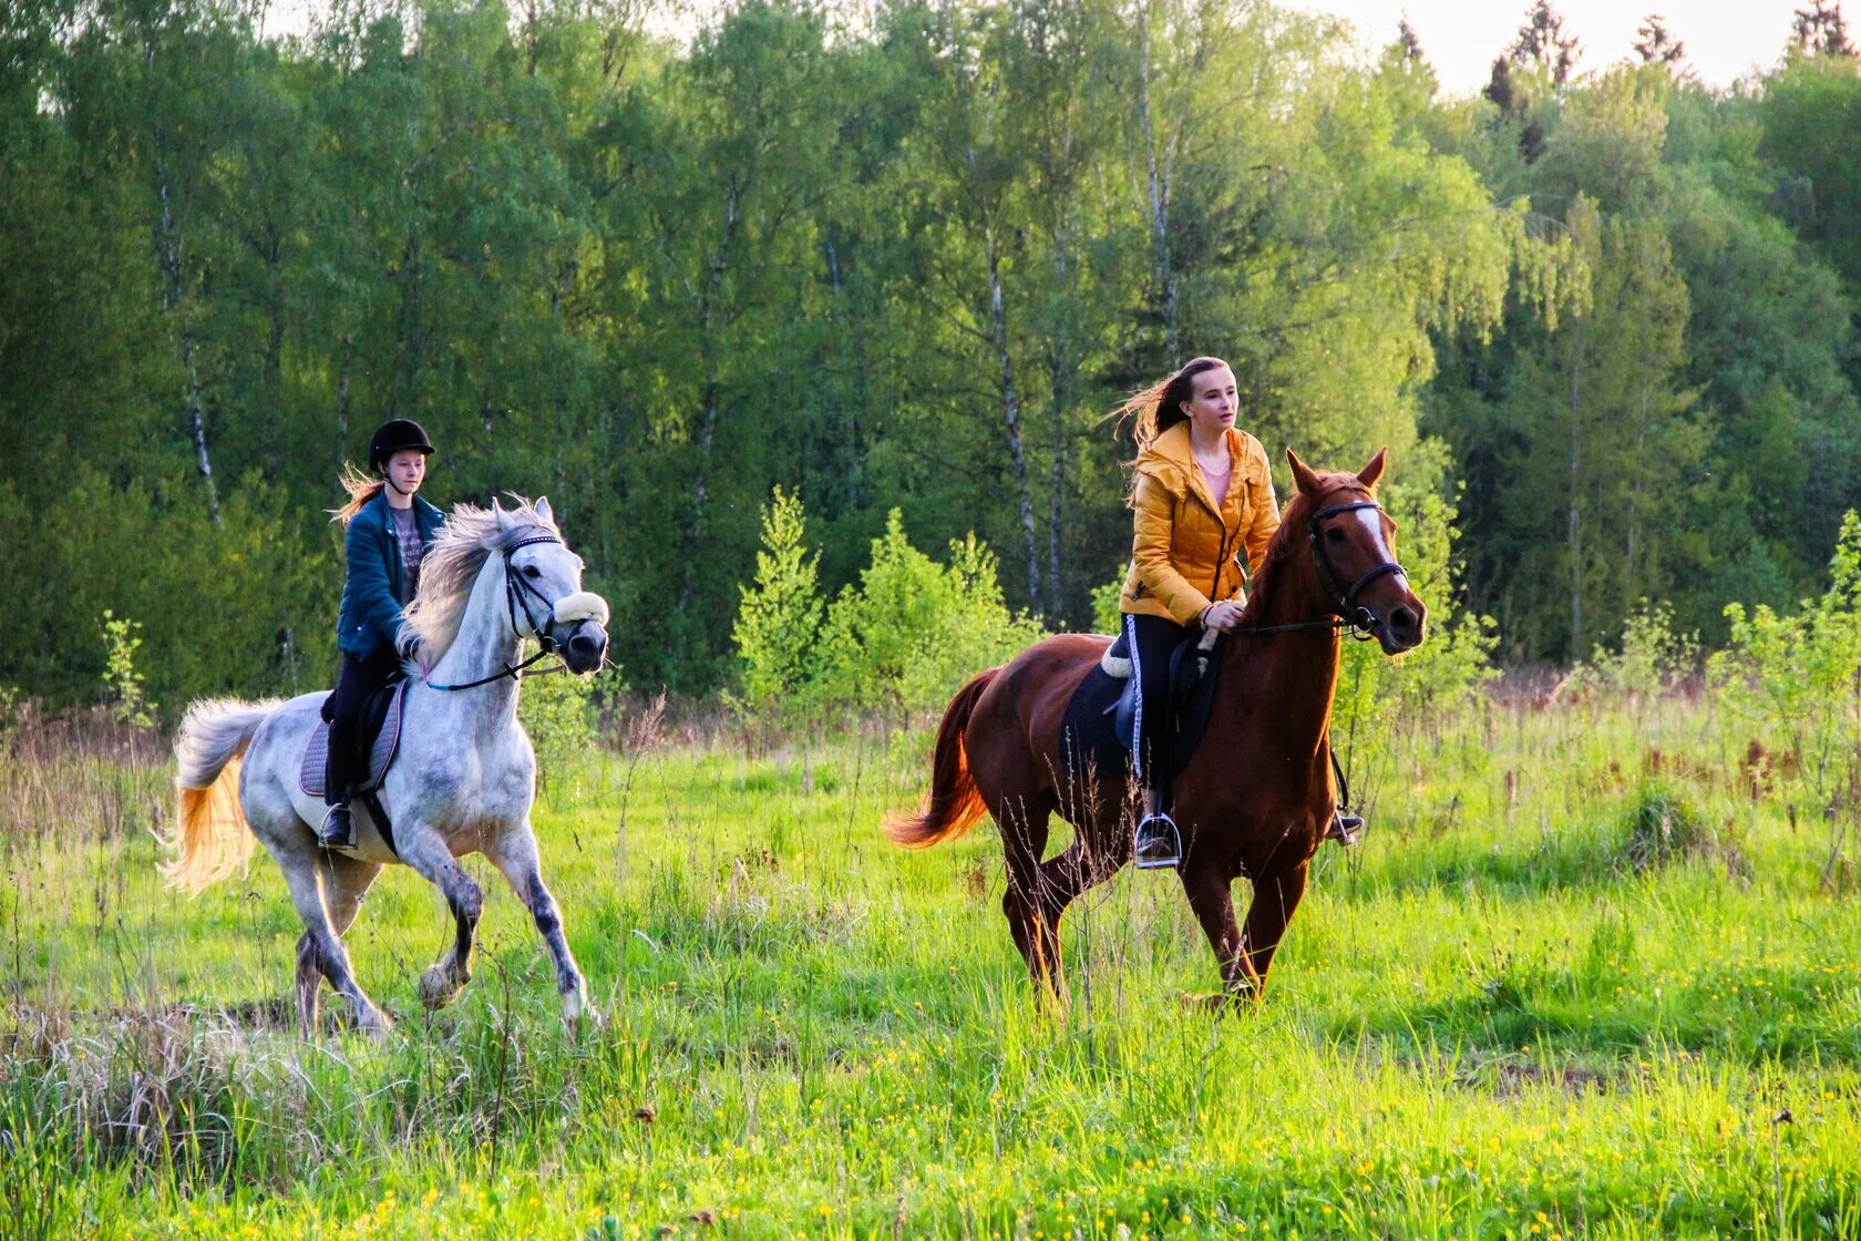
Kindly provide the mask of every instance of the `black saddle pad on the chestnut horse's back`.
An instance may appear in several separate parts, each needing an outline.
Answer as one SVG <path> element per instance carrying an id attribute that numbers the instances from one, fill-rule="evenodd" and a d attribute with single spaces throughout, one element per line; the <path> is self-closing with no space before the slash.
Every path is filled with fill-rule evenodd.
<path id="1" fill-rule="evenodd" d="M 1217 631 L 1195 633 L 1171 653 L 1171 692 L 1163 703 L 1165 727 L 1159 729 L 1163 754 L 1158 755 L 1163 787 L 1189 765 L 1208 727 L 1223 642 L 1225 636 Z M 1148 707 L 1156 711 L 1158 703 Z M 1135 748 L 1137 677 L 1131 675 L 1126 636 L 1118 634 L 1066 703 L 1066 716 L 1061 720 L 1061 761 L 1076 776 L 1083 776 L 1087 768 L 1100 774 L 1124 772 Z"/>

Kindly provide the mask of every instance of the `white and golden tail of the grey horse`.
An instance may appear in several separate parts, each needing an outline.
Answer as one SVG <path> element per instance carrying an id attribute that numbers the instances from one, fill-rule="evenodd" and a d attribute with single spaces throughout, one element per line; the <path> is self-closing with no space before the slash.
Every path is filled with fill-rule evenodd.
<path id="1" fill-rule="evenodd" d="M 199 893 L 208 884 L 244 871 L 253 835 L 238 804 L 238 768 L 251 735 L 277 701 L 249 703 L 238 698 L 207 698 L 188 707 L 175 735 L 181 813 L 175 830 L 160 835 L 175 854 L 162 863 L 171 887 Z"/>

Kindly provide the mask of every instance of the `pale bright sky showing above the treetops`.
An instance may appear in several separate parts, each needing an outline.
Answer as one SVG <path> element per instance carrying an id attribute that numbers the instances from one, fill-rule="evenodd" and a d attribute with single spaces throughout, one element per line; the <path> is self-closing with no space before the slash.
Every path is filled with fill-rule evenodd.
<path id="1" fill-rule="evenodd" d="M 711 7 L 698 0 L 689 9 Z M 1511 45 L 1530 0 L 1282 0 L 1286 7 L 1344 17 L 1366 52 L 1396 37 L 1407 17 L 1435 67 L 1442 91 L 1470 95 L 1487 82 L 1493 58 Z M 1768 69 L 1783 54 L 1790 17 L 1809 0 L 1556 0 L 1563 26 L 1582 41 L 1578 71 L 1595 71 L 1632 56 L 1636 26 L 1660 13 L 1686 47 L 1686 63 L 1708 86 L 1731 86 Z M 272 0 L 266 33 L 303 33 L 322 0 Z"/>

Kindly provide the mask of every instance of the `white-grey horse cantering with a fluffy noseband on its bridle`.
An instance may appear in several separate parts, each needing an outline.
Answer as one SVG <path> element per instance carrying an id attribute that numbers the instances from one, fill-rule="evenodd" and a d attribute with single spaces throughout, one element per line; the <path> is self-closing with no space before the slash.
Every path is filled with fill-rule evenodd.
<path id="1" fill-rule="evenodd" d="M 575 1023 L 588 1012 L 581 969 L 536 860 L 536 754 L 517 722 L 515 674 L 525 638 L 555 647 L 571 672 L 601 666 L 609 610 L 599 595 L 582 592 L 581 571 L 581 556 L 562 543 L 549 500 L 515 510 L 497 500 L 489 512 L 473 504 L 452 510 L 421 564 L 421 590 L 404 625 L 419 634 L 432 668 L 422 674 L 408 666 L 400 750 L 378 791 L 393 848 L 361 802 L 348 856 L 316 843 L 313 824 L 322 821 L 324 804 L 298 787 L 298 772 L 324 694 L 261 703 L 205 700 L 188 709 L 175 739 L 181 819 L 164 839 L 177 856 L 162 871 L 169 884 L 197 893 L 242 869 L 255 835 L 264 843 L 303 917 L 296 992 L 305 1036 L 318 1029 L 318 975 L 348 999 L 357 1027 L 380 1038 L 393 1025 L 355 982 L 342 949 L 363 893 L 391 861 L 437 884 L 456 923 L 452 947 L 421 975 L 421 999 L 439 1008 L 460 994 L 471 981 L 473 932 L 484 904 L 478 884 L 458 863 L 471 852 L 504 873 L 536 919 L 555 958 L 564 1020 Z M 480 677 L 482 685 L 463 688 Z"/>

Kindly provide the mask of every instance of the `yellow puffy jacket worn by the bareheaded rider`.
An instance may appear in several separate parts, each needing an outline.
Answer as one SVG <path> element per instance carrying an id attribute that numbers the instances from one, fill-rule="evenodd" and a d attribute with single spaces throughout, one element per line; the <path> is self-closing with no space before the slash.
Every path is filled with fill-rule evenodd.
<path id="1" fill-rule="evenodd" d="M 1228 428 L 1228 456 L 1234 476 L 1217 508 L 1189 448 L 1187 422 L 1169 428 L 1137 454 L 1131 567 L 1118 595 L 1120 610 L 1189 625 L 1210 603 L 1241 594 L 1245 579 L 1238 553 L 1243 547 L 1249 575 L 1260 567 L 1279 530 L 1267 454 L 1258 439 Z"/>

